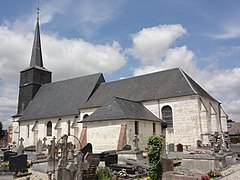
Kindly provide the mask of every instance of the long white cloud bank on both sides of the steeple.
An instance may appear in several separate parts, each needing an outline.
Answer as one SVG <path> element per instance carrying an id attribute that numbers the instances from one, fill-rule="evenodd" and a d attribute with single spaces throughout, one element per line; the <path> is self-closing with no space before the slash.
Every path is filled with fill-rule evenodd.
<path id="1" fill-rule="evenodd" d="M 0 119 L 16 113 L 19 72 L 29 66 L 33 33 L 16 32 L 14 26 L 0 26 Z M 55 80 L 96 72 L 112 73 L 126 60 L 118 42 L 91 44 L 82 39 L 42 35 L 44 66 Z M 4 107 L 4 108 L 3 108 Z"/>

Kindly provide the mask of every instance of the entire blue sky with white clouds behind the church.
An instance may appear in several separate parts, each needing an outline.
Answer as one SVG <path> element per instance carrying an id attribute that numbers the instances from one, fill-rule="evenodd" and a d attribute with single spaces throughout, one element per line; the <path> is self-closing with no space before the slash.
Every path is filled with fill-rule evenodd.
<path id="1" fill-rule="evenodd" d="M 16 113 L 38 1 L 0 6 L 0 120 Z M 107 81 L 182 68 L 240 120 L 239 0 L 41 0 L 44 66 L 54 81 L 95 72 Z"/>

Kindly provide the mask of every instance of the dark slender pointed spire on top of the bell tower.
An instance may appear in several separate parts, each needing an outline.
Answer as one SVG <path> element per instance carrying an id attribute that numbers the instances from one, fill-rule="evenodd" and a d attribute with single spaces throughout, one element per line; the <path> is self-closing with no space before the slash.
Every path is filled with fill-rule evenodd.
<path id="1" fill-rule="evenodd" d="M 41 38 L 40 38 L 40 27 L 39 27 L 39 18 L 37 18 L 37 24 L 35 28 L 35 35 L 32 47 L 32 56 L 30 67 L 43 67 L 42 60 L 42 49 L 41 49 Z"/>

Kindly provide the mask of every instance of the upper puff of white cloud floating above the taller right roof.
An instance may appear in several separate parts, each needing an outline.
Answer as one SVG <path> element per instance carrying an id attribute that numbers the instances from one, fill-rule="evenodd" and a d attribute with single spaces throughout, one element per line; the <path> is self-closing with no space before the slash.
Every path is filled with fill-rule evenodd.
<path id="1" fill-rule="evenodd" d="M 129 53 L 143 65 L 157 63 L 166 55 L 176 39 L 186 33 L 180 24 L 144 28 L 132 36 L 133 47 L 129 49 Z"/>

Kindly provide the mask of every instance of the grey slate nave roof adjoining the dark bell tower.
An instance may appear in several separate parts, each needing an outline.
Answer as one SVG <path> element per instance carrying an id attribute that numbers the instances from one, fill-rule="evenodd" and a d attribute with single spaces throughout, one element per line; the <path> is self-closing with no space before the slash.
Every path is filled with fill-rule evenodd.
<path id="1" fill-rule="evenodd" d="M 100 83 L 101 73 L 44 84 L 29 103 L 19 121 L 78 114 Z"/>

